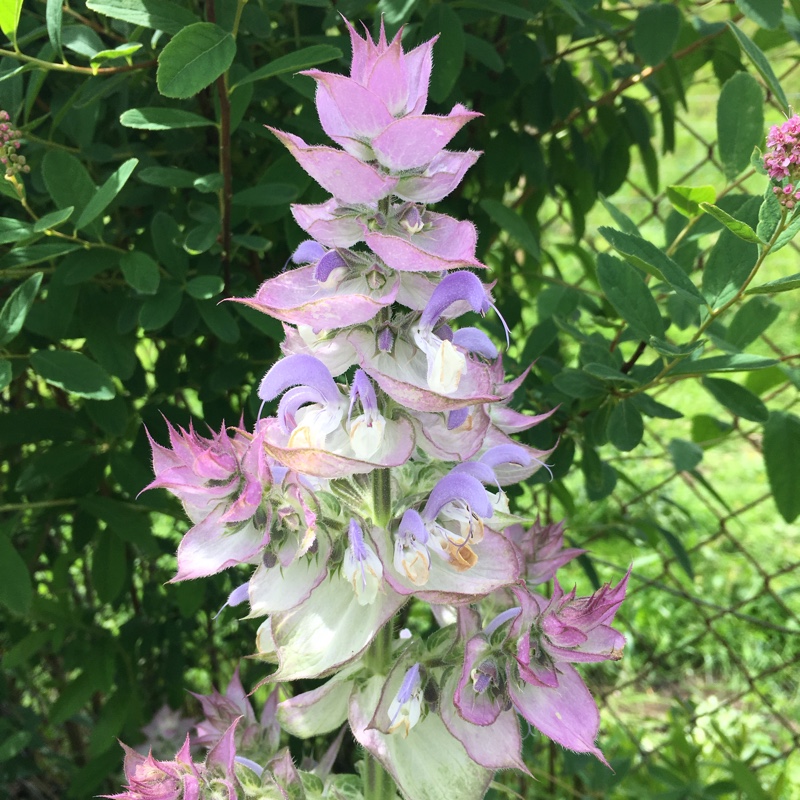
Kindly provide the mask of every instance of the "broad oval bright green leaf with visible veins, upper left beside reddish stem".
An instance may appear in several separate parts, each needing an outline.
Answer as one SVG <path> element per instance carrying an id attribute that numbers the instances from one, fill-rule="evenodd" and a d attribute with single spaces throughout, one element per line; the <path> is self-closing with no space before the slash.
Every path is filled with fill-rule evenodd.
<path id="1" fill-rule="evenodd" d="M 236 40 L 212 22 L 177 33 L 158 56 L 156 84 L 165 97 L 184 100 L 213 83 L 233 63 Z"/>

